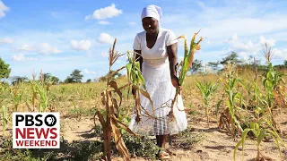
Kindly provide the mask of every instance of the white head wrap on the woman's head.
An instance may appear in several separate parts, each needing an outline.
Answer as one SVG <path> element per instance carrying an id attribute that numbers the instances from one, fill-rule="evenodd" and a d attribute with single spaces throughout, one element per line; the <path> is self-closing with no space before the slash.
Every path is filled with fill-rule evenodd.
<path id="1" fill-rule="evenodd" d="M 143 8 L 142 20 L 144 17 L 153 17 L 157 21 L 160 21 L 161 16 L 162 16 L 161 7 L 157 5 L 148 5 Z"/>

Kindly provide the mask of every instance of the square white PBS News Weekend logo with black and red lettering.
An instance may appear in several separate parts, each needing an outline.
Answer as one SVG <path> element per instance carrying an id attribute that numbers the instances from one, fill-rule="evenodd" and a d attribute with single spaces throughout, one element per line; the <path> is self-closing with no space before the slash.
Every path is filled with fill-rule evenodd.
<path id="1" fill-rule="evenodd" d="M 59 113 L 13 113 L 13 148 L 60 148 Z"/>

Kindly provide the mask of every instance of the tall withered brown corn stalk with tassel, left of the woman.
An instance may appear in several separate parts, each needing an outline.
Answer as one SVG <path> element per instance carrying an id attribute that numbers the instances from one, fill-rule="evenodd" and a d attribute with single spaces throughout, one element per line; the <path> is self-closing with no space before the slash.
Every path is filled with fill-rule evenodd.
<path id="1" fill-rule="evenodd" d="M 112 49 L 109 49 L 109 73 L 111 71 L 111 66 L 115 64 L 118 57 L 121 56 L 117 51 L 115 51 L 117 39 L 115 39 L 114 45 Z M 120 70 L 124 69 L 125 67 L 122 67 L 117 70 L 119 72 Z M 119 151 L 119 153 L 122 155 L 122 157 L 125 158 L 126 161 L 130 160 L 130 155 L 128 153 L 128 150 L 126 148 L 125 142 L 122 138 L 122 134 L 119 131 L 119 127 L 128 131 L 129 133 L 137 136 L 133 131 L 131 131 L 126 124 L 121 123 L 118 120 L 118 113 L 119 113 L 119 107 L 122 103 L 122 97 L 123 94 L 121 92 L 122 89 L 125 89 L 129 86 L 129 84 L 126 84 L 120 88 L 117 87 L 117 82 L 115 80 L 111 80 L 111 76 L 113 74 L 110 73 L 108 76 L 107 81 L 107 88 L 101 93 L 101 103 L 105 106 L 105 113 L 101 114 L 98 110 L 95 115 L 98 116 L 100 124 L 103 129 L 103 135 L 104 135 L 104 160 L 111 160 L 111 139 L 116 143 L 116 148 Z M 114 95 L 117 95 L 119 97 L 119 103 L 117 103 L 116 97 Z"/>

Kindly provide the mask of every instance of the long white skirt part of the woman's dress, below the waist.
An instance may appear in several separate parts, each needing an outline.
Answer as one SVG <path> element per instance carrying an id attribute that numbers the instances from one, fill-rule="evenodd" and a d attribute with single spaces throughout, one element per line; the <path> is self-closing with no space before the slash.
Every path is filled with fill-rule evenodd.
<path id="1" fill-rule="evenodd" d="M 136 123 L 134 109 L 129 128 L 139 135 L 175 134 L 187 129 L 187 115 L 184 111 L 181 111 L 184 106 L 180 95 L 178 95 L 177 102 L 174 105 L 175 121 L 170 122 L 167 116 L 170 113 L 171 102 L 176 93 L 176 89 L 170 80 L 169 62 L 161 64 L 160 67 L 151 67 L 143 62 L 142 68 L 145 85 L 152 98 L 154 108 L 152 109 L 150 100 L 143 95 L 140 96 L 140 102 L 141 106 L 154 118 L 142 112 L 141 121 Z"/>

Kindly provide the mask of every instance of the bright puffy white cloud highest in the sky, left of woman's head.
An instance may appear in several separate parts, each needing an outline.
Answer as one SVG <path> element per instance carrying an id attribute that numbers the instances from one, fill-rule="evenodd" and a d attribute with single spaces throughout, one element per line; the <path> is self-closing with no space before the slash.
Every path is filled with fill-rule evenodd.
<path id="1" fill-rule="evenodd" d="M 103 20 L 103 19 L 116 17 L 117 15 L 121 13 L 123 12 L 121 10 L 118 10 L 115 4 L 111 4 L 110 6 L 107 6 L 105 8 L 100 8 L 94 11 L 92 15 L 86 16 L 85 20 L 90 20 L 90 19 Z"/>

